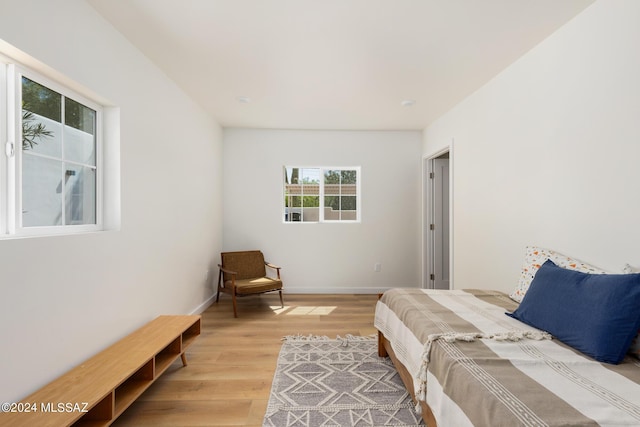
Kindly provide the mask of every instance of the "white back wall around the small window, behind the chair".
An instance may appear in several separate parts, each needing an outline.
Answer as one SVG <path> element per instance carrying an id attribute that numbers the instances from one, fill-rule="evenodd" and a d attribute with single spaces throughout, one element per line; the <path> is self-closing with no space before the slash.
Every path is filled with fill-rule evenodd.
<path id="1" fill-rule="evenodd" d="M 292 293 L 419 286 L 420 146 L 421 132 L 225 129 L 224 249 L 261 249 Z M 362 222 L 283 223 L 285 165 L 361 166 Z"/>

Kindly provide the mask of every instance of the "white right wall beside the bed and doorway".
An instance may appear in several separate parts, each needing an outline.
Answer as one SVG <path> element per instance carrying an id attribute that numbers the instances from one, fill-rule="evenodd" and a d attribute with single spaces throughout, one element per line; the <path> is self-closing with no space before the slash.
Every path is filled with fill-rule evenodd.
<path id="1" fill-rule="evenodd" d="M 510 291 L 535 244 L 640 266 L 640 2 L 600 0 L 425 131 L 454 139 L 455 288 Z"/>

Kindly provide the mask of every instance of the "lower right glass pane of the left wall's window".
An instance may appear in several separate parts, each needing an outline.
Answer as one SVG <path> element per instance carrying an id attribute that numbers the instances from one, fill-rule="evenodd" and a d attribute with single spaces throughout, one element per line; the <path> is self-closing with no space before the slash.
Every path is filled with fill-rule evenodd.
<path id="1" fill-rule="evenodd" d="M 96 172 L 65 164 L 65 220 L 67 225 L 96 223 Z"/>

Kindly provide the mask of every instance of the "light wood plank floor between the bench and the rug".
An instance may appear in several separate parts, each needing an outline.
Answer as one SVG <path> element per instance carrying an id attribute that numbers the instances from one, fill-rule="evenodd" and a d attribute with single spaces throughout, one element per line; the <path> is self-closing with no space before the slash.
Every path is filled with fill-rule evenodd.
<path id="1" fill-rule="evenodd" d="M 370 335 L 377 295 L 221 295 L 202 334 L 114 426 L 261 426 L 282 337 Z M 271 307 L 273 306 L 273 307 Z"/>

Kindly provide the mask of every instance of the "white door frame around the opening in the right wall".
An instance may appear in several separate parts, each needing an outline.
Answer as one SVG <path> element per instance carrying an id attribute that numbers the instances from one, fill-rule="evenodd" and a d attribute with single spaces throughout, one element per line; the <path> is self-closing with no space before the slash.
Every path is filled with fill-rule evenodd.
<path id="1" fill-rule="evenodd" d="M 422 288 L 429 289 L 430 274 L 434 271 L 431 248 L 434 246 L 433 233 L 430 233 L 429 224 L 434 220 L 433 186 L 430 185 L 429 174 L 433 172 L 434 160 L 443 154 L 449 153 L 449 289 L 455 289 L 453 278 L 453 140 L 451 143 L 422 158 Z"/>

